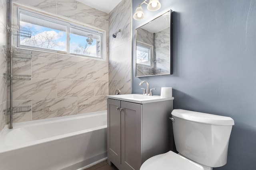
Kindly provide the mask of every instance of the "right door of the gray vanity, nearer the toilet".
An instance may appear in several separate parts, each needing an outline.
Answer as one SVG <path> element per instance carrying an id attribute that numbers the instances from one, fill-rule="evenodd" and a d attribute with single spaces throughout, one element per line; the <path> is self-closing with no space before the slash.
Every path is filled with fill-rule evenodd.
<path id="1" fill-rule="evenodd" d="M 139 170 L 141 156 L 141 104 L 121 101 L 121 164 L 125 170 Z"/>

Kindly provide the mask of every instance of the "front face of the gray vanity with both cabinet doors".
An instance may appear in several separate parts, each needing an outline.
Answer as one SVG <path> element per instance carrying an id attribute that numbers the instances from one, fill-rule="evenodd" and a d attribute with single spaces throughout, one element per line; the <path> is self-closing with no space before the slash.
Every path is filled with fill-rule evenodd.
<path id="1" fill-rule="evenodd" d="M 108 160 L 119 170 L 141 166 L 141 109 L 141 104 L 108 99 Z"/>

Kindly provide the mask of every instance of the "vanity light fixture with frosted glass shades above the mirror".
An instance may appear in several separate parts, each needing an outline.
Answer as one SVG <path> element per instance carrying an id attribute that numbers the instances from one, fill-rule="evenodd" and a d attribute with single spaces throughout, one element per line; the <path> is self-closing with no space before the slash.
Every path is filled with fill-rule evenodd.
<path id="1" fill-rule="evenodd" d="M 141 5 L 142 5 L 143 3 L 145 3 L 145 4 L 148 5 L 148 6 L 147 6 L 147 9 L 150 10 L 150 11 L 157 11 L 157 10 L 159 10 L 159 9 L 161 8 L 161 4 L 160 4 L 159 0 L 149 0 L 149 3 L 146 2 L 146 1 L 147 1 L 147 0 L 144 0 L 144 1 L 143 1 L 141 4 L 139 4 L 139 6 L 136 8 L 135 13 L 134 13 L 134 15 L 133 15 L 133 18 L 134 18 L 135 20 L 142 20 L 142 19 L 145 17 L 145 15 L 144 15 L 144 13 L 143 13 L 143 9 L 142 9 L 142 7 L 141 7 Z"/>

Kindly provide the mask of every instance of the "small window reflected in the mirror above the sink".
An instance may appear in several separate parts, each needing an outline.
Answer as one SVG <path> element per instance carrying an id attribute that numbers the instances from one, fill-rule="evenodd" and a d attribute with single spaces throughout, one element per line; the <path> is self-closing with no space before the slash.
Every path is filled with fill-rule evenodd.
<path id="1" fill-rule="evenodd" d="M 136 63 L 151 66 L 153 61 L 153 46 L 145 43 L 136 43 Z"/>

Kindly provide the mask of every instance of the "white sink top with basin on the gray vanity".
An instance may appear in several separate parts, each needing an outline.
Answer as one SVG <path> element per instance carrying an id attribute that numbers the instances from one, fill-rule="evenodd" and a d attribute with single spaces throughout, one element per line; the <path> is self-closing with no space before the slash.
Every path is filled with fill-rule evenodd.
<path id="1" fill-rule="evenodd" d="M 173 100 L 174 98 L 161 98 L 160 96 L 145 96 L 142 94 L 121 94 L 121 95 L 110 95 L 110 99 L 122 100 L 126 102 L 133 102 L 138 104 L 160 102 L 165 100 Z"/>

